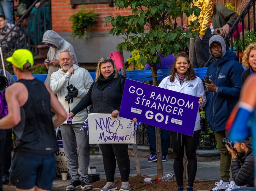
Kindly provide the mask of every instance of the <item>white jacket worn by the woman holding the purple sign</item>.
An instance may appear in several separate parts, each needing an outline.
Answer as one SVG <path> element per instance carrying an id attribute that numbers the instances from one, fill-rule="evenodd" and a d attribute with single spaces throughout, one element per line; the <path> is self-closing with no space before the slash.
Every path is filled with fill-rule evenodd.
<path id="1" fill-rule="evenodd" d="M 181 93 L 186 93 L 189 95 L 194 95 L 197 97 L 201 95 L 203 98 L 203 102 L 199 105 L 199 107 L 203 107 L 206 104 L 206 97 L 205 97 L 205 92 L 203 88 L 203 82 L 199 77 L 196 77 L 196 79 L 194 80 L 188 80 L 188 81 L 185 80 L 185 82 L 181 86 L 180 80 L 176 76 L 173 82 L 170 81 L 170 76 L 167 76 L 161 81 L 158 87 L 181 92 Z M 198 101 L 199 101 L 199 98 L 198 98 Z M 200 112 L 198 110 L 194 131 L 197 131 L 199 129 L 201 129 L 201 125 L 200 125 Z"/>

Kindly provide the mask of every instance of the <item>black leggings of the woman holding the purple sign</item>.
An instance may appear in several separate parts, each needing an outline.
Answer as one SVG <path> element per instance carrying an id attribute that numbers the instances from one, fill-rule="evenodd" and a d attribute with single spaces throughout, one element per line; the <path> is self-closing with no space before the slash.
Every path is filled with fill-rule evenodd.
<path id="1" fill-rule="evenodd" d="M 174 154 L 173 170 L 178 186 L 183 186 L 183 157 L 184 146 L 186 146 L 188 186 L 193 187 L 197 172 L 196 151 L 200 131 L 194 131 L 193 137 L 171 132 L 171 143 Z"/>

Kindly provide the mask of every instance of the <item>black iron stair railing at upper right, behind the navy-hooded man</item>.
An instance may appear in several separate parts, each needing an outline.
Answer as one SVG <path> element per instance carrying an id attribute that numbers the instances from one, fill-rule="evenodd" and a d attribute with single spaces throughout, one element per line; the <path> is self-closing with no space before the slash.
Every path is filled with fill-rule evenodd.
<path id="1" fill-rule="evenodd" d="M 233 26 L 231 27 L 231 29 L 229 30 L 228 34 L 225 36 L 225 41 L 227 43 L 229 43 L 231 50 L 233 50 L 233 46 L 234 46 L 234 39 L 233 39 L 233 34 L 236 32 L 236 52 L 237 55 L 239 56 L 239 39 L 240 39 L 240 33 L 239 33 L 239 24 L 242 24 L 242 46 L 243 49 L 245 48 L 245 23 L 244 20 L 247 20 L 246 23 L 246 27 L 248 29 L 248 34 L 250 35 L 250 33 L 252 32 L 252 30 L 254 32 L 256 32 L 256 25 L 255 25 L 255 0 L 250 0 L 248 2 L 248 4 L 246 5 L 246 7 L 244 8 L 244 10 L 242 11 L 242 13 L 239 15 L 239 17 L 237 18 L 237 20 L 234 22 Z M 252 22 L 251 22 L 252 21 Z M 204 65 L 204 67 L 208 67 L 210 65 L 212 61 L 212 57 L 209 58 L 209 60 L 207 61 L 207 63 Z M 239 59 L 239 62 L 241 63 L 241 58 Z"/>

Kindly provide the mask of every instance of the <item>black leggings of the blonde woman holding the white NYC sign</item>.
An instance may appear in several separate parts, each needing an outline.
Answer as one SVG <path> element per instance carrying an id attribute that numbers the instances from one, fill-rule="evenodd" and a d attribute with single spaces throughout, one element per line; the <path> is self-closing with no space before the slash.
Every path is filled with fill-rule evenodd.
<path id="1" fill-rule="evenodd" d="M 128 144 L 100 144 L 106 181 L 115 181 L 116 161 L 121 174 L 122 182 L 127 182 L 130 175 L 130 158 Z"/>

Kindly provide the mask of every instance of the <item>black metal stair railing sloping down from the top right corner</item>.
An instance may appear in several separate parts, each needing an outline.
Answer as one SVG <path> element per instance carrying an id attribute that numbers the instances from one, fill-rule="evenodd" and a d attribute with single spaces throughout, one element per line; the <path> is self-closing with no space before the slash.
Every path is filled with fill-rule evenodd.
<path id="1" fill-rule="evenodd" d="M 227 42 L 229 39 L 230 39 L 230 47 L 231 47 L 231 50 L 233 50 L 233 33 L 234 32 L 237 32 L 237 36 L 236 36 L 236 51 L 237 51 L 237 55 L 239 55 L 239 46 L 238 46 L 238 42 L 239 42 L 239 39 L 240 39 L 240 34 L 239 34 L 239 31 L 238 31 L 238 24 L 239 22 L 242 22 L 242 42 L 243 42 L 243 47 L 244 47 L 244 35 L 245 35 L 245 32 L 244 32 L 244 18 L 246 18 L 246 15 L 247 15 L 247 22 L 248 22 L 248 33 L 250 35 L 250 32 L 251 32 L 251 23 L 250 23 L 250 20 L 251 20 L 251 16 L 250 16 L 250 10 L 251 8 L 253 9 L 252 13 L 253 13 L 253 30 L 256 32 L 256 24 L 255 24 L 255 0 L 250 0 L 248 2 L 248 4 L 246 5 L 246 7 L 244 8 L 244 10 L 242 11 L 242 13 L 239 15 L 239 17 L 237 18 L 237 20 L 234 22 L 233 26 L 231 27 L 231 29 L 229 30 L 228 34 L 225 36 L 224 40 Z M 245 48 L 245 47 L 244 47 Z M 204 67 L 208 67 L 212 61 L 213 57 L 211 56 L 209 58 L 209 60 L 207 61 L 207 63 L 204 65 Z M 239 60 L 239 62 L 241 62 L 241 60 Z"/>

